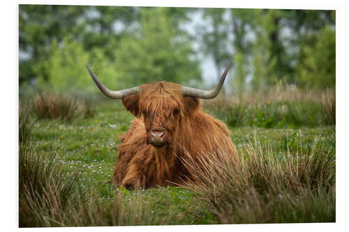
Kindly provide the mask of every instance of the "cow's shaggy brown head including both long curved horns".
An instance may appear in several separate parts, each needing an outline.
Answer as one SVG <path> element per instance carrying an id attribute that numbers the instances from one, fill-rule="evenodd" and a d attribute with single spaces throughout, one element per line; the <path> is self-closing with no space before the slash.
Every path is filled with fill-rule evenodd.
<path id="1" fill-rule="evenodd" d="M 230 63 L 211 91 L 170 82 L 155 82 L 121 91 L 111 91 L 97 79 L 88 65 L 87 70 L 102 93 L 109 98 L 122 99 L 128 111 L 136 117 L 143 118 L 147 130 L 147 144 L 161 148 L 172 143 L 181 120 L 198 109 L 198 98 L 211 99 L 218 95 L 229 66 Z"/>

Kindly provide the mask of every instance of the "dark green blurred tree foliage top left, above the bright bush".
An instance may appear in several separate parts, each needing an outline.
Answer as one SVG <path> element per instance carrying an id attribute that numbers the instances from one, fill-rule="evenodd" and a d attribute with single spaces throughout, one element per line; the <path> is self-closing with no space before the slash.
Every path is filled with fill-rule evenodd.
<path id="1" fill-rule="evenodd" d="M 20 83 L 38 76 L 49 82 L 50 70 L 44 63 L 54 40 L 60 44 L 69 37 L 82 42 L 84 50 L 102 49 L 107 59 L 113 59 L 126 32 L 115 31 L 115 24 L 127 27 L 135 20 L 133 7 L 20 5 Z"/>

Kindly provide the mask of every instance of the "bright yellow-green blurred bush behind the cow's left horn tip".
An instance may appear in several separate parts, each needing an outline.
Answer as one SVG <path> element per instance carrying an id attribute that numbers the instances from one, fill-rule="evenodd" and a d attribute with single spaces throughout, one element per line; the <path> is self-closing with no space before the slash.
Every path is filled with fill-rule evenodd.
<path id="1" fill-rule="evenodd" d="M 87 52 L 80 42 L 67 36 L 60 43 L 53 40 L 50 54 L 46 61 L 34 66 L 34 70 L 36 68 L 47 70 L 47 79 L 40 75 L 41 72 L 37 72 L 40 88 L 48 87 L 55 91 L 75 93 L 97 91 L 88 75 L 86 63 L 93 67 L 101 82 L 109 88 L 120 88 L 113 63 L 107 59 L 101 49 Z"/>

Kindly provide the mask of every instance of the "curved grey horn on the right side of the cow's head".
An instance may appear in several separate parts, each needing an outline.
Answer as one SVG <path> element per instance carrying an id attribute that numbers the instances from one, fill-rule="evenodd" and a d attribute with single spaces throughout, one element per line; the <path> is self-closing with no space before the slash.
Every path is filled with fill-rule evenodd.
<path id="1" fill-rule="evenodd" d="M 204 91 L 204 90 L 201 90 L 198 88 L 181 86 L 181 94 L 186 95 L 186 96 L 195 97 L 195 98 L 204 98 L 204 99 L 216 98 L 216 95 L 218 95 L 219 91 L 221 91 L 221 88 L 223 86 L 225 77 L 227 76 L 229 67 L 230 67 L 230 62 L 228 63 L 227 68 L 225 68 L 225 70 L 221 76 L 221 79 L 219 79 L 219 82 L 216 85 L 216 87 L 214 87 L 210 91 Z"/>

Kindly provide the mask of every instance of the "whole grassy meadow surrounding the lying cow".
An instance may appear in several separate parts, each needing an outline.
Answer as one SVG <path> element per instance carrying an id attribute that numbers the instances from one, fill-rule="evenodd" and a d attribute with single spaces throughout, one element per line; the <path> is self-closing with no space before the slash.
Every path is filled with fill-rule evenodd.
<path id="1" fill-rule="evenodd" d="M 205 181 L 182 187 L 129 192 L 110 185 L 119 135 L 133 119 L 118 100 L 93 103 L 92 114 L 76 111 L 68 121 L 37 118 L 20 146 L 20 227 L 334 222 L 335 121 L 320 115 L 327 111 L 333 119 L 335 101 L 329 93 L 294 92 L 288 102 L 289 93 L 281 93 L 269 104 L 248 98 L 227 104 L 236 109 L 204 101 L 205 110 L 216 110 L 230 127 L 241 165 L 215 162 L 209 179 L 197 172 Z M 248 119 L 253 110 L 277 115 L 269 110 L 279 111 L 281 102 L 300 112 L 313 107 L 316 123 L 295 123 L 288 114 L 284 124 L 274 116 L 272 126 Z"/>

